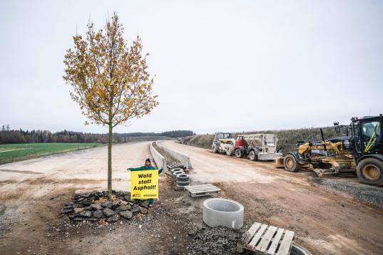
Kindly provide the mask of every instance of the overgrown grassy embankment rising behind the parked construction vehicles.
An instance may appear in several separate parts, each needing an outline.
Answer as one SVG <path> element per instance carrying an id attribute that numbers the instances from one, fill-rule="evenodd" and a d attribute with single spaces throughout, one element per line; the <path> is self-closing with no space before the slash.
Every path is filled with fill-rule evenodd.
<path id="1" fill-rule="evenodd" d="M 325 139 L 335 136 L 346 135 L 345 130 L 339 135 L 335 134 L 334 127 L 323 127 Z M 283 153 L 291 152 L 296 149 L 297 141 L 319 141 L 320 128 L 319 127 L 305 127 L 294 130 L 265 130 L 265 131 L 249 131 L 249 132 L 234 132 L 234 135 L 239 134 L 276 134 L 279 137 L 277 148 L 281 149 Z M 214 140 L 214 135 L 193 135 L 183 138 L 183 144 L 192 145 L 195 147 L 210 149 Z"/>

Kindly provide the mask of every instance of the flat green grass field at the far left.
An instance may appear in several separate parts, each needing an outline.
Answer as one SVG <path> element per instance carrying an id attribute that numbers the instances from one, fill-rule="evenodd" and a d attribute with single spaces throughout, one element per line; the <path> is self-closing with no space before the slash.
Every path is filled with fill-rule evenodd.
<path id="1" fill-rule="evenodd" d="M 0 165 L 71 150 L 101 146 L 100 143 L 23 143 L 0 145 Z"/>

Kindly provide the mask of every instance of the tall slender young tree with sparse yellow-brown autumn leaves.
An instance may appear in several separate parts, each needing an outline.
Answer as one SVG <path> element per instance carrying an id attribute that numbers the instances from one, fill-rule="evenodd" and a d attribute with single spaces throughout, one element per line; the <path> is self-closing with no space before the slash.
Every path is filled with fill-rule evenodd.
<path id="1" fill-rule="evenodd" d="M 108 125 L 108 196 L 112 190 L 113 127 L 150 113 L 158 101 L 152 94 L 141 38 L 131 46 L 123 38 L 118 15 L 106 21 L 105 31 L 95 31 L 89 21 L 83 36 L 73 36 L 74 47 L 64 58 L 63 79 L 73 87 L 71 98 L 80 105 L 90 123 Z M 86 124 L 89 124 L 86 122 Z"/>

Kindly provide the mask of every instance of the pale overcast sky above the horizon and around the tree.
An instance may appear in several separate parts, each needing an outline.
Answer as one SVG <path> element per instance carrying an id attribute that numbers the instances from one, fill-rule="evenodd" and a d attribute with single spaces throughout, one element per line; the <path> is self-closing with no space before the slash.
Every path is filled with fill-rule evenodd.
<path id="1" fill-rule="evenodd" d="M 117 132 L 278 130 L 383 113 L 383 1 L 0 1 L 0 125 L 84 125 L 72 36 L 116 11 L 150 53 L 160 105 Z"/>

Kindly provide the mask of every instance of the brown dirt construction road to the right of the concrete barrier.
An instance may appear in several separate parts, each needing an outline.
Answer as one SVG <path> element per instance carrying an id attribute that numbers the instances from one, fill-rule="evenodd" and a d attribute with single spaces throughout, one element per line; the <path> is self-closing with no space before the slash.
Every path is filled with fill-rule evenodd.
<path id="1" fill-rule="evenodd" d="M 213 182 L 223 196 L 245 206 L 245 217 L 296 232 L 313 254 L 382 254 L 383 212 L 352 197 L 331 194 L 310 182 L 310 172 L 277 170 L 209 150 L 163 142 L 187 155 L 193 181 Z"/>

